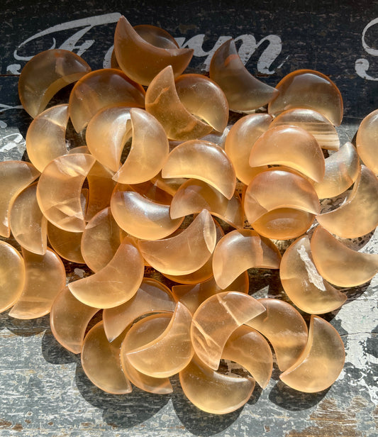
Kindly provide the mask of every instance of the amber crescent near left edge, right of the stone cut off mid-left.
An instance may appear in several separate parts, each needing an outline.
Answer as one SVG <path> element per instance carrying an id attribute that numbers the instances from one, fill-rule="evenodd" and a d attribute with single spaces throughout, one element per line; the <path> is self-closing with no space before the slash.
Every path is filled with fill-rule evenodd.
<path id="1" fill-rule="evenodd" d="M 47 248 L 48 221 L 40 211 L 36 193 L 37 182 L 18 194 L 9 211 L 9 225 L 18 244 L 43 255 Z"/>

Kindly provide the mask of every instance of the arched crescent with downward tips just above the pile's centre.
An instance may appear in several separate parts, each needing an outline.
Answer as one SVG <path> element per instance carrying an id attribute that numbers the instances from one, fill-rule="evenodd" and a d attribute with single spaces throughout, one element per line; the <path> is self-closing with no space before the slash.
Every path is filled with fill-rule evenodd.
<path id="1" fill-rule="evenodd" d="M 225 151 L 204 140 L 189 140 L 177 145 L 162 167 L 162 177 L 200 179 L 218 189 L 227 199 L 233 197 L 236 186 L 235 170 Z"/>

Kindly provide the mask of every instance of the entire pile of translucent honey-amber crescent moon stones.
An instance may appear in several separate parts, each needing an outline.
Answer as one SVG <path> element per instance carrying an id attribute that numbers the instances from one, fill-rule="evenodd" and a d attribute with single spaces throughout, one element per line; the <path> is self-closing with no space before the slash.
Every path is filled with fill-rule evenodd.
<path id="1" fill-rule="evenodd" d="M 378 272 L 377 254 L 345 244 L 378 223 L 378 110 L 340 145 L 343 100 L 325 74 L 269 87 L 232 39 L 209 77 L 184 73 L 192 55 L 121 17 L 111 68 L 55 49 L 26 64 L 30 162 L 0 163 L 0 311 L 50 313 L 105 392 L 169 394 L 178 374 L 190 402 L 226 414 L 273 366 L 299 392 L 340 375 L 343 341 L 322 315 Z M 67 126 L 81 143 L 67 145 Z M 69 282 L 62 260 L 91 274 Z M 279 270 L 284 299 L 252 297 L 254 269 Z"/>

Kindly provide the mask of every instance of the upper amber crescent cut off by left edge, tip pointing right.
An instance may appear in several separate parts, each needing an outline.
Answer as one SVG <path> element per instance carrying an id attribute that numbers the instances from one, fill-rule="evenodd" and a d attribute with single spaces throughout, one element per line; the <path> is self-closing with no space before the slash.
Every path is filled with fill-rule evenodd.
<path id="1" fill-rule="evenodd" d="M 0 162 L 0 236 L 9 238 L 11 235 L 9 211 L 13 201 L 39 175 L 40 172 L 30 162 Z"/>

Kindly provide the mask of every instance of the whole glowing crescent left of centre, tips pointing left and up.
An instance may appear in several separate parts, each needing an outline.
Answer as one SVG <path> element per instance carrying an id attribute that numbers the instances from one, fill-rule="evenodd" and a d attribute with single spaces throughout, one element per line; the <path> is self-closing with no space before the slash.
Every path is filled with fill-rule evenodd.
<path id="1" fill-rule="evenodd" d="M 143 280 L 144 263 L 130 238 L 123 239 L 111 261 L 98 272 L 71 282 L 74 297 L 95 308 L 111 308 L 128 301 Z"/>

